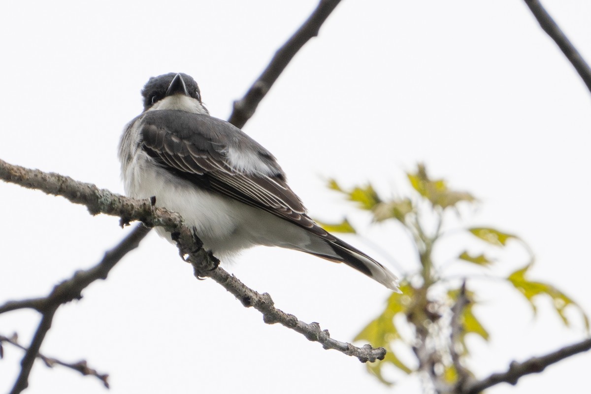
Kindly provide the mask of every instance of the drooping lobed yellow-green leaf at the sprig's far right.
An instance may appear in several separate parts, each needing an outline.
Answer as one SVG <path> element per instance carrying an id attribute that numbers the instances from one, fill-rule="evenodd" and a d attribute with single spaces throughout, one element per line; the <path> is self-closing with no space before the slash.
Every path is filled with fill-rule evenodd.
<path id="1" fill-rule="evenodd" d="M 534 304 L 534 298 L 538 295 L 547 295 L 552 299 L 554 310 L 556 310 L 564 325 L 567 327 L 570 326 L 570 321 L 566 317 L 565 310 L 566 307 L 572 305 L 573 307 L 577 308 L 577 310 L 579 310 L 585 328 L 587 332 L 589 332 L 589 317 L 587 317 L 587 314 L 583 311 L 579 304 L 574 302 L 573 299 L 568 297 L 553 285 L 543 282 L 528 281 L 528 279 L 525 278 L 525 275 L 531 266 L 532 265 L 530 263 L 524 268 L 518 269 L 517 271 L 511 273 L 511 275 L 509 275 L 506 279 L 509 281 L 509 283 L 515 286 L 515 288 L 525 297 L 525 299 L 527 299 L 531 305 L 532 310 L 534 311 L 534 315 L 537 313 L 537 307 Z"/>

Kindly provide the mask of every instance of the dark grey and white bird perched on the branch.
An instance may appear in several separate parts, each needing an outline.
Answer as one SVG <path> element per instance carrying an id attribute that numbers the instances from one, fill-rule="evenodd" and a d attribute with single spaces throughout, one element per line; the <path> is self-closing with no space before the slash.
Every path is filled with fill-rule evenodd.
<path id="1" fill-rule="evenodd" d="M 279 246 L 345 263 L 400 292 L 394 273 L 308 216 L 271 152 L 209 115 L 192 77 L 151 77 L 141 95 L 144 110 L 125 126 L 119 143 L 129 197 L 155 197 L 157 206 L 179 213 L 216 258 Z M 172 242 L 165 230 L 157 231 Z"/>

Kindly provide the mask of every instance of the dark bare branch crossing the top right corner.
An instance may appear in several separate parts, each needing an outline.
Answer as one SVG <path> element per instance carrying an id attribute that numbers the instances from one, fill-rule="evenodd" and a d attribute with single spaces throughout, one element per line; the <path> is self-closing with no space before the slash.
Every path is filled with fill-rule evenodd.
<path id="1" fill-rule="evenodd" d="M 579 73 L 583 82 L 587 85 L 587 89 L 591 92 L 591 69 L 589 68 L 589 64 L 587 64 L 579 51 L 571 44 L 569 38 L 564 35 L 563 31 L 560 30 L 560 27 L 558 27 L 554 19 L 550 17 L 550 14 L 546 12 L 538 0 L 524 1 L 530 7 L 532 14 L 534 14 L 541 28 L 554 40 L 562 53 L 564 53 L 564 56 L 573 64 L 574 69 L 577 70 L 577 73 Z"/>

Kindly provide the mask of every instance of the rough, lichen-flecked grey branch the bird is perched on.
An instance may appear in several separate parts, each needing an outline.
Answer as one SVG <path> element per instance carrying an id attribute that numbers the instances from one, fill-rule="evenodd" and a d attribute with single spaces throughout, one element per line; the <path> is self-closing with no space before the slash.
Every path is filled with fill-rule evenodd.
<path id="1" fill-rule="evenodd" d="M 105 213 L 119 216 L 122 222 L 140 220 L 147 226 L 162 226 L 172 233 L 180 255 L 193 265 L 196 276 L 209 276 L 226 290 L 235 295 L 245 307 L 254 307 L 262 312 L 265 323 L 281 323 L 303 334 L 311 341 L 321 343 L 324 349 L 336 349 L 349 356 L 357 357 L 361 362 L 382 360 L 386 354 L 383 347 L 374 349 L 366 345 L 356 347 L 352 344 L 330 338 L 328 331 L 320 330 L 317 323 L 303 323 L 294 315 L 286 314 L 274 307 L 268 294 L 246 287 L 235 276 L 217 266 L 217 259 L 201 248 L 200 240 L 183 224 L 180 215 L 163 208 L 154 207 L 149 201 L 139 201 L 120 196 L 95 185 L 74 181 L 70 177 L 29 170 L 8 164 L 0 159 L 0 178 L 24 187 L 44 191 L 54 196 L 63 196 L 73 203 L 85 205 L 90 213 Z"/>

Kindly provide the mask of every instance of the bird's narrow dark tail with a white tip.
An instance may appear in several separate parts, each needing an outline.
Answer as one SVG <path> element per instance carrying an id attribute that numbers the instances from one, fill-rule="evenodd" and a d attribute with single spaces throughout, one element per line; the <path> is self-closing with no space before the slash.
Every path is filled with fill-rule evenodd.
<path id="1" fill-rule="evenodd" d="M 304 250 L 304 252 L 322 257 L 323 259 L 330 261 L 345 263 L 346 265 L 355 268 L 357 271 L 365 273 L 365 275 L 381 283 L 392 291 L 397 293 L 401 292 L 400 288 L 398 288 L 397 276 L 389 271 L 388 268 L 381 265 L 365 253 L 361 252 L 361 250 L 349 245 L 345 241 L 340 240 L 335 236 L 332 237 L 332 240 L 325 239 L 324 242 L 326 245 L 330 246 L 330 249 L 332 249 L 335 253 L 334 255 L 332 255 L 332 253 L 329 255 L 326 253 L 311 252 L 310 250 Z"/>

